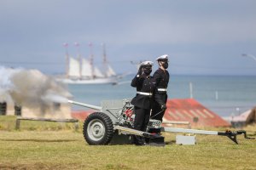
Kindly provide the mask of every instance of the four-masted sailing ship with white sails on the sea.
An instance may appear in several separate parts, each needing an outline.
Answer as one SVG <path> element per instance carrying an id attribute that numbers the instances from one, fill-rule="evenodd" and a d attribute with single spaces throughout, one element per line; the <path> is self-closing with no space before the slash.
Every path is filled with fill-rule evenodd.
<path id="1" fill-rule="evenodd" d="M 64 45 L 67 47 L 67 44 Z M 76 45 L 78 46 L 78 44 Z M 113 71 L 111 65 L 109 65 L 105 50 L 105 45 L 103 44 L 103 65 L 102 71 L 93 63 L 93 54 L 90 54 L 90 59 L 84 59 L 79 54 L 78 59 L 68 55 L 66 51 L 67 60 L 67 72 L 66 77 L 59 78 L 57 81 L 67 83 L 67 84 L 116 84 L 118 82 L 118 76 Z M 91 45 L 90 45 L 91 47 Z"/>

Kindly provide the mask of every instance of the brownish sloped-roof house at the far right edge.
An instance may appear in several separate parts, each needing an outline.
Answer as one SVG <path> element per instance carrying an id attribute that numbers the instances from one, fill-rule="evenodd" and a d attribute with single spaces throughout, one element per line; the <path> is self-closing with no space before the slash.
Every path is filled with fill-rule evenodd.
<path id="1" fill-rule="evenodd" d="M 231 117 L 232 127 L 244 127 L 248 124 L 256 123 L 256 107 L 241 113 L 239 116 Z"/>

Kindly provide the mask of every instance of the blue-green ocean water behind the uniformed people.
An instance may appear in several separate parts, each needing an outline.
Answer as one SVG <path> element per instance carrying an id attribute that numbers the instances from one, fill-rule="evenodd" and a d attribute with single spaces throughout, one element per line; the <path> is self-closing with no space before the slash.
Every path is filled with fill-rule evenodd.
<path id="1" fill-rule="evenodd" d="M 119 80 L 118 85 L 68 85 L 73 100 L 100 105 L 105 99 L 132 99 L 135 75 Z M 192 87 L 192 88 L 191 88 Z M 237 116 L 256 105 L 256 77 L 253 76 L 177 76 L 171 75 L 168 99 L 194 98 L 219 116 Z M 73 110 L 84 110 L 73 105 Z"/>

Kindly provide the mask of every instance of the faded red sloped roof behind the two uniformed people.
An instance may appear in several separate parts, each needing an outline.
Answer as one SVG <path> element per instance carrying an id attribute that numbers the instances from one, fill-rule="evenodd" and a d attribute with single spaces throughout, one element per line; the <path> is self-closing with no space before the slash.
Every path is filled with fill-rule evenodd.
<path id="1" fill-rule="evenodd" d="M 163 121 L 190 122 L 191 127 L 230 127 L 230 123 L 195 99 L 168 99 Z"/>

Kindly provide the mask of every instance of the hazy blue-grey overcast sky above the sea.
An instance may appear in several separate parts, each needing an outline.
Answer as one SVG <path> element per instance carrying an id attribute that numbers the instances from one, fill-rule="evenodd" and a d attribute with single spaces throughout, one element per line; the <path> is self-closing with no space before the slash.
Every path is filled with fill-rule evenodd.
<path id="1" fill-rule="evenodd" d="M 256 75 L 255 0 L 0 0 L 0 65 L 65 71 L 70 55 L 116 72 L 169 54 L 172 74 Z M 79 48 L 74 46 L 79 42 Z M 157 68 L 157 65 L 154 65 Z"/>

